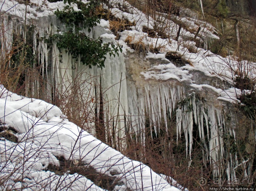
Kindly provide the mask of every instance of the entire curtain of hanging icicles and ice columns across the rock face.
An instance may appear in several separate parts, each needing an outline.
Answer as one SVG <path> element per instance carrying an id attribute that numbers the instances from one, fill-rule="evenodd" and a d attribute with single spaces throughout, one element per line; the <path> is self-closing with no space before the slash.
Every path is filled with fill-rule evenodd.
<path id="1" fill-rule="evenodd" d="M 183 131 L 187 157 L 191 158 L 193 128 L 199 128 L 200 139 L 204 144 L 204 149 L 202 149 L 205 152 L 204 165 L 207 165 L 206 160 L 213 164 L 215 177 L 220 176 L 219 173 L 225 170 L 229 178 L 235 178 L 235 172 L 233 170 L 236 161 L 235 158 L 230 156 L 230 162 L 226 169 L 222 169 L 224 168 L 223 165 L 217 165 L 221 163 L 222 157 L 226 154 L 222 139 L 223 132 L 235 137 L 234 131 L 226 127 L 222 110 L 196 99 L 195 94 L 189 95 L 190 99 L 187 101 L 187 104 L 177 107 L 179 101 L 187 98 L 185 88 L 181 86 L 173 87 L 168 82 L 161 82 L 157 85 L 151 85 L 148 82 L 145 86 L 136 86 L 135 83 L 126 80 L 124 77 L 126 69 L 122 54 L 115 58 L 108 56 L 105 63 L 106 67 L 102 70 L 96 67 L 92 69 L 86 68 L 79 61 L 75 61 L 69 53 L 65 53 L 65 51 L 60 52 L 56 47 L 56 43 L 53 43 L 51 48 L 48 47 L 48 44 L 44 41 L 44 37 L 47 39 L 50 34 L 56 32 L 56 17 L 53 17 L 50 22 L 51 24 L 42 22 L 45 24 L 41 24 L 40 26 L 39 21 L 33 33 L 33 54 L 37 57 L 39 61 L 37 65 L 41 65 L 42 75 L 45 75 L 44 78 L 48 82 L 55 83 L 57 85 L 56 88 L 64 93 L 71 91 L 69 90 L 70 84 L 73 83 L 74 76 L 80 71 L 83 71 L 83 74 L 80 75 L 83 79 L 86 79 L 87 75 L 90 75 L 94 76 L 94 81 L 99 82 L 101 78 L 101 86 L 108 88 L 103 94 L 104 99 L 109 100 L 108 105 L 105 106 L 105 110 L 108 109 L 109 115 L 105 116 L 105 120 L 107 121 L 107 118 L 111 117 L 114 122 L 118 123 L 117 134 L 119 137 L 125 136 L 124 116 L 128 116 L 127 118 L 132 123 L 134 132 L 140 132 L 141 130 L 143 132 L 145 128 L 145 113 L 147 113 L 150 119 L 150 126 L 154 128 L 154 132 L 157 132 L 156 128 L 160 126 L 162 120 L 165 123 L 165 128 L 168 128 L 167 117 L 169 116 L 167 114 L 175 115 L 177 140 L 181 137 L 181 132 Z M 20 22 L 8 20 L 6 17 L 2 18 L 1 25 L 4 26 L 4 32 L 0 36 L 1 52 L 6 50 L 8 52 L 13 43 L 13 34 L 24 34 L 23 26 Z M 106 29 L 97 26 L 88 35 L 91 38 L 97 38 L 104 33 L 106 33 Z M 59 57 L 60 54 L 62 57 Z M 120 75 L 120 79 L 118 79 L 118 75 Z M 121 86 L 118 83 L 120 80 Z M 88 82 L 88 84 L 90 83 Z M 49 85 L 47 88 L 48 92 L 45 92 L 49 96 L 52 95 L 52 86 L 54 84 Z M 81 84 L 81 86 L 85 87 L 83 89 L 84 96 L 94 97 L 95 91 L 91 91 L 85 84 Z M 32 94 L 34 93 L 36 95 L 36 91 L 40 88 L 39 82 L 34 81 L 29 88 Z M 98 88 L 97 91 L 99 91 Z M 118 103 L 120 104 L 119 110 L 117 107 Z M 190 107 L 191 105 L 193 106 L 192 108 Z M 156 134 L 156 136 L 158 135 Z M 143 144 L 144 140 L 141 141 Z M 207 142 L 209 143 L 207 144 Z"/>

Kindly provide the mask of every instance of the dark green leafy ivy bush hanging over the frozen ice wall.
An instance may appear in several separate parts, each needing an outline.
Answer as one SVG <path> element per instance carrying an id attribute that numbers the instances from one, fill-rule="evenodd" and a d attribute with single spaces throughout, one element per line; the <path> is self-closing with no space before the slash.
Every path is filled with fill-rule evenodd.
<path id="1" fill-rule="evenodd" d="M 57 9 L 55 15 L 66 24 L 68 32 L 55 34 L 51 40 L 55 39 L 58 49 L 69 52 L 76 61 L 80 57 L 80 61 L 89 68 L 97 66 L 102 69 L 105 67 L 106 54 L 115 57 L 116 54 L 119 55 L 118 51 L 122 52 L 122 49 L 121 46 L 115 46 L 113 43 L 103 43 L 102 38 L 90 39 L 85 33 L 80 32 L 81 28 L 86 27 L 90 32 L 92 27 L 100 23 L 100 19 L 94 13 L 99 3 L 93 1 L 84 4 L 75 0 L 64 1 L 66 2 L 76 3 L 81 11 L 75 11 L 70 6 L 66 6 L 63 10 Z"/>

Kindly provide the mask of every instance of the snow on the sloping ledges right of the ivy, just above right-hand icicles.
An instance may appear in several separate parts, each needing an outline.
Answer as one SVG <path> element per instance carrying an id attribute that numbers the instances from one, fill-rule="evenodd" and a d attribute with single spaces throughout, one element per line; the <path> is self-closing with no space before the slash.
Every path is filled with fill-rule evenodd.
<path id="1" fill-rule="evenodd" d="M 237 67 L 239 66 L 237 61 L 220 57 L 219 55 L 215 55 L 210 51 L 205 51 L 200 48 L 197 48 L 197 53 L 190 53 L 187 48 L 182 47 L 181 45 L 178 46 L 178 43 L 174 40 L 170 42 L 168 39 L 150 38 L 148 37 L 147 33 L 140 32 L 139 30 L 125 30 L 120 33 L 120 36 L 121 41 L 128 41 L 130 44 L 137 43 L 139 45 L 145 45 L 145 47 L 160 48 L 161 53 L 155 54 L 148 52 L 146 58 L 161 58 L 166 60 L 164 57 L 167 52 L 176 52 L 181 55 L 182 59 L 187 60 L 187 62 L 190 63 L 182 67 L 176 67 L 172 62 L 169 64 L 159 64 L 158 66 L 152 66 L 148 69 L 148 71 L 141 72 L 141 75 L 143 75 L 145 79 L 156 79 L 159 81 L 174 79 L 179 82 L 187 82 L 191 85 L 191 87 L 197 87 L 198 89 L 202 90 L 200 86 L 195 86 L 193 84 L 193 75 L 190 74 L 190 71 L 200 71 L 203 72 L 206 76 L 216 76 L 221 80 L 224 79 L 228 82 L 233 82 L 233 78 L 235 76 L 234 71 L 237 71 Z M 183 45 L 186 45 L 186 43 Z M 193 44 L 190 43 L 190 45 Z M 245 63 L 245 61 L 243 61 L 243 63 Z M 248 64 L 248 66 L 253 66 L 253 63 Z M 245 72 L 250 76 L 254 76 L 254 70 L 255 68 L 250 67 L 250 69 L 245 69 Z M 214 89 L 214 87 L 209 88 Z M 229 90 L 223 91 L 229 92 Z M 231 96 L 228 96 L 225 95 L 224 92 L 220 93 L 220 91 L 217 91 L 219 95 L 218 99 L 231 103 L 238 101 L 238 94 L 232 93 Z"/>

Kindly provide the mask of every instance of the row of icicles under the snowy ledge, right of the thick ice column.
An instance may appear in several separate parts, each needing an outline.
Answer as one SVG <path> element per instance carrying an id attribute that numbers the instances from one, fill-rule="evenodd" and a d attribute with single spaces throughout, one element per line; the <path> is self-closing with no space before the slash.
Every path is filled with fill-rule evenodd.
<path id="1" fill-rule="evenodd" d="M 135 102 L 134 100 L 137 101 Z M 177 103 L 181 100 L 187 101 L 185 104 L 180 104 L 177 107 Z M 235 178 L 235 172 L 231 169 L 233 169 L 233 162 L 236 159 L 230 155 L 230 164 L 228 164 L 227 169 L 220 165 L 226 154 L 224 151 L 223 134 L 228 133 L 235 137 L 235 132 L 231 128 L 226 127 L 224 111 L 213 105 L 208 105 L 206 101 L 199 100 L 196 98 L 195 93 L 187 95 L 184 87 L 172 87 L 168 83 L 160 83 L 157 86 L 148 84 L 146 87 L 137 87 L 136 90 L 134 87 L 134 90 L 128 91 L 128 103 L 133 128 L 137 127 L 137 132 L 140 132 L 139 128 L 145 128 L 145 123 L 142 123 L 145 121 L 145 113 L 148 114 L 150 126 L 154 127 L 155 133 L 159 132 L 157 128 L 160 127 L 161 120 L 164 121 L 167 130 L 169 128 L 167 126 L 167 117 L 175 115 L 176 141 L 178 143 L 178 139 L 181 138 L 183 131 L 186 142 L 186 154 L 190 159 L 194 140 L 193 128 L 195 130 L 198 128 L 200 140 L 204 146 L 202 148 L 204 165 L 207 165 L 207 161 L 213 165 L 214 177 L 221 176 L 220 172 L 226 170 L 227 176 L 230 179 L 233 180 Z"/>

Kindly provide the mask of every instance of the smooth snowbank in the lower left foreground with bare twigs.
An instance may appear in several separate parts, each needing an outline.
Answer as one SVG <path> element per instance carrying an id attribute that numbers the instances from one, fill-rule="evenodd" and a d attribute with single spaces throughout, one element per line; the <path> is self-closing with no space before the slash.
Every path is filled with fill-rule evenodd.
<path id="1" fill-rule="evenodd" d="M 113 176 L 119 183 L 114 190 L 179 190 L 145 164 L 125 157 L 69 122 L 52 104 L 18 96 L 0 85 L 0 108 L 1 131 L 17 138 L 16 142 L 0 138 L 1 190 L 103 190 L 77 173 L 49 171 L 49 165 L 60 165 L 56 156 Z"/>

